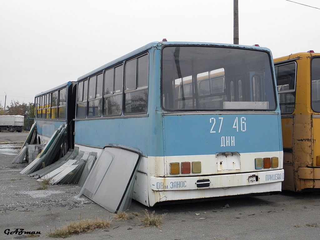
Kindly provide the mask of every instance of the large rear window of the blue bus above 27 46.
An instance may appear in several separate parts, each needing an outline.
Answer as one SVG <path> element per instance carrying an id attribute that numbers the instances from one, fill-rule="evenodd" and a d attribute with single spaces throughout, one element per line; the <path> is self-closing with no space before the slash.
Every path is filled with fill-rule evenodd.
<path id="1" fill-rule="evenodd" d="M 168 111 L 274 110 L 267 52 L 168 46 L 162 53 L 162 107 Z"/>

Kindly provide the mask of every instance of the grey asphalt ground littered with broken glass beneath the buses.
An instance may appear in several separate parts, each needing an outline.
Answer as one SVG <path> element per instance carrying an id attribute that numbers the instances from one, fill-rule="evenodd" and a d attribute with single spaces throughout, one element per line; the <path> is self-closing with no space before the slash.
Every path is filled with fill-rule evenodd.
<path id="1" fill-rule="evenodd" d="M 27 163 L 12 164 L 13 158 L 14 155 L 0 153 L 0 239 L 3 240 L 26 237 L 10 234 L 15 229 L 40 232 L 36 239 L 57 239 L 47 234 L 80 218 L 101 218 L 110 220 L 111 224 L 67 239 L 320 239 L 317 193 L 282 192 L 153 208 L 132 201 L 127 211 L 130 219 L 117 221 L 114 214 L 85 196 L 77 198 L 81 190 L 77 185 L 35 190 L 38 182 L 19 173 Z M 144 227 L 140 219 L 145 209 L 148 213 L 155 211 L 157 216 L 165 214 L 160 228 Z"/>

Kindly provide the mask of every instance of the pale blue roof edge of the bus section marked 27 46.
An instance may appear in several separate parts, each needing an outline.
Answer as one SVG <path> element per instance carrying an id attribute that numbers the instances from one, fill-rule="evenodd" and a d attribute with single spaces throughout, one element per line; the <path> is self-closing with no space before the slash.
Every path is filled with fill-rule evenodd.
<path id="1" fill-rule="evenodd" d="M 105 68 L 108 68 L 109 66 L 113 66 L 116 65 L 117 63 L 122 62 L 125 59 L 131 58 L 141 52 L 147 51 L 150 48 L 153 47 L 161 47 L 164 45 L 185 45 L 185 46 L 224 46 L 224 47 L 238 47 L 238 48 L 246 48 L 246 49 L 255 49 L 255 50 L 261 50 L 261 51 L 267 51 L 270 53 L 271 55 L 271 51 L 268 48 L 265 47 L 260 47 L 260 46 L 246 46 L 246 45 L 235 45 L 235 44 L 221 44 L 221 43 L 202 43 L 202 42 L 151 42 L 149 44 L 146 44 L 132 52 L 127 53 L 126 55 L 117 58 L 116 60 L 113 60 L 111 62 L 108 62 L 107 64 L 104 64 L 103 66 L 101 66 L 100 68 L 96 68 L 94 70 L 92 70 L 91 72 L 78 77 L 77 81 L 79 80 L 83 80 L 89 76 L 92 76 L 100 71 L 102 71 Z M 272 56 L 271 56 L 272 59 Z"/>

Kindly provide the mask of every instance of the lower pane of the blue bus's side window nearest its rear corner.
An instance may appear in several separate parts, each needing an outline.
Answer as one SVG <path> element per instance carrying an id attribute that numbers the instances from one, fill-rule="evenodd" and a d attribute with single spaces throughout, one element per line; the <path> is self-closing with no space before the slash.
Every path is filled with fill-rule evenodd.
<path id="1" fill-rule="evenodd" d="M 148 89 L 125 94 L 124 114 L 145 114 L 148 109 Z"/>

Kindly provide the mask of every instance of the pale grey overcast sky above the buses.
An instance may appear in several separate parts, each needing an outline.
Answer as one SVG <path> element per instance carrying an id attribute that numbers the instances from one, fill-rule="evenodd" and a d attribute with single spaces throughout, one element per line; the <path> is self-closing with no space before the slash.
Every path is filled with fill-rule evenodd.
<path id="1" fill-rule="evenodd" d="M 320 52 L 319 0 L 238 0 L 239 44 Z M 317 9 L 318 8 L 318 9 Z M 233 0 L 0 0 L 0 103 L 33 102 L 153 41 L 233 43 Z"/>

